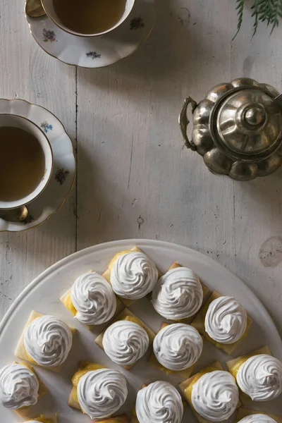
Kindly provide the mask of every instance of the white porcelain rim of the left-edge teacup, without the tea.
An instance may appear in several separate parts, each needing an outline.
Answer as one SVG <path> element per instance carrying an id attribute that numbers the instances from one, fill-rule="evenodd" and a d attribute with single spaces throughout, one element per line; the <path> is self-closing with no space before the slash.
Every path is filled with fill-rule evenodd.
<path id="1" fill-rule="evenodd" d="M 12 126 L 15 128 L 20 128 L 25 130 L 27 133 L 33 135 L 41 145 L 45 158 L 44 175 L 35 190 L 30 192 L 27 196 L 20 198 L 19 200 L 1 201 L 0 199 L 0 210 L 8 210 L 16 209 L 32 202 L 32 200 L 35 200 L 35 198 L 38 197 L 39 194 L 41 194 L 44 188 L 46 188 L 51 178 L 51 173 L 53 170 L 53 154 L 47 136 L 37 125 L 35 125 L 35 123 L 32 123 L 27 118 L 23 118 L 22 116 L 17 116 L 13 114 L 0 114 L 0 127 L 3 126 Z M 23 178 L 24 177 L 25 176 L 23 175 Z"/>

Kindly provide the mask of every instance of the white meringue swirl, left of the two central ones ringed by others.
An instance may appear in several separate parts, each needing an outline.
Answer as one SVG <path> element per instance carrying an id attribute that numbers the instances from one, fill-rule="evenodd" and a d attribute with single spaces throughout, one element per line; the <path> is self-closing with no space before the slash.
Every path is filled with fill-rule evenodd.
<path id="1" fill-rule="evenodd" d="M 120 320 L 111 324 L 103 337 L 103 347 L 111 360 L 122 366 L 134 364 L 146 353 L 149 336 L 139 324 Z"/>

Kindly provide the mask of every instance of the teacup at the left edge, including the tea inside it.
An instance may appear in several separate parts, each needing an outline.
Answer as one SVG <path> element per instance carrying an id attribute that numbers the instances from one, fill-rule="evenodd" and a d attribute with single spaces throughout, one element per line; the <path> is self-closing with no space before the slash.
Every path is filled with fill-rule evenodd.
<path id="1" fill-rule="evenodd" d="M 35 200 L 53 170 L 51 145 L 27 118 L 0 114 L 0 210 L 16 209 Z"/>

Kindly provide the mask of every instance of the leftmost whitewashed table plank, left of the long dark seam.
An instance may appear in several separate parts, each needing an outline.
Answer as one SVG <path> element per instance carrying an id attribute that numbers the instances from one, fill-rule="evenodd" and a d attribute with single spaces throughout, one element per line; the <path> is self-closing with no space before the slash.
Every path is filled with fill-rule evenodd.
<path id="1" fill-rule="evenodd" d="M 75 68 L 40 49 L 23 9 L 23 0 L 0 1 L 0 97 L 46 107 L 75 142 Z M 0 318 L 35 276 L 75 251 L 75 207 L 73 190 L 61 211 L 44 225 L 23 233 L 0 233 Z"/>

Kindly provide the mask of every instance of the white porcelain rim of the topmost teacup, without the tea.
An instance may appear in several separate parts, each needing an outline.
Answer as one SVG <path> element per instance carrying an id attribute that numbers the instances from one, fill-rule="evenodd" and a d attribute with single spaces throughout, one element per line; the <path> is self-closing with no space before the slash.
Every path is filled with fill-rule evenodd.
<path id="1" fill-rule="evenodd" d="M 101 1 L 103 1 L 103 0 L 101 0 Z M 125 19 L 128 18 L 128 16 L 130 15 L 130 12 L 133 9 L 134 4 L 135 4 L 135 0 L 126 0 L 123 15 L 118 20 L 118 22 L 116 22 L 115 25 L 110 27 L 108 30 L 106 30 L 104 32 L 96 32 L 94 34 L 93 33 L 92 34 L 85 34 L 85 33 L 75 32 L 75 31 L 71 30 L 71 28 L 68 28 L 61 21 L 61 19 L 59 18 L 59 16 L 57 15 L 57 13 L 54 9 L 53 0 L 41 0 L 41 2 L 42 2 L 42 6 L 44 8 L 44 11 L 47 13 L 47 16 L 51 20 L 53 20 L 53 22 L 57 26 L 59 26 L 61 28 L 61 30 L 69 32 L 70 34 L 73 34 L 73 35 L 77 35 L 78 37 L 98 37 L 100 35 L 105 35 L 105 34 L 108 34 L 111 31 L 115 30 L 117 27 L 119 27 L 125 21 Z M 78 8 L 79 8 L 79 6 L 80 6 L 80 1 L 78 1 Z"/>

